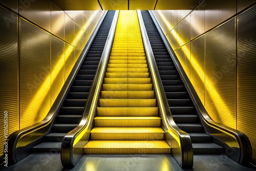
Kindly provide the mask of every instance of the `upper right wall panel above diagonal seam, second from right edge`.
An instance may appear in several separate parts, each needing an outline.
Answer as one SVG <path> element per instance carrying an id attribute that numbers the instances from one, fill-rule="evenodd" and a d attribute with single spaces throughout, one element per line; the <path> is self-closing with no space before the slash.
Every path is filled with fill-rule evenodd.
<path id="1" fill-rule="evenodd" d="M 237 11 L 237 1 L 233 0 L 205 0 L 205 4 L 205 31 L 224 22 Z"/>

